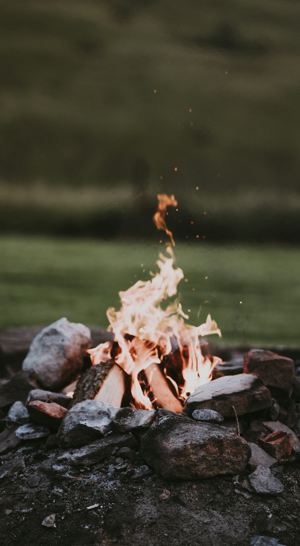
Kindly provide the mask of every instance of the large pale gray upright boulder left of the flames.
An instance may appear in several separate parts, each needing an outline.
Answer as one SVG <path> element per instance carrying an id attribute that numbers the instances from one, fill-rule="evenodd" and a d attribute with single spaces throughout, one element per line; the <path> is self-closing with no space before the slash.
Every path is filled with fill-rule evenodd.
<path id="1" fill-rule="evenodd" d="M 76 378 L 91 346 L 91 332 L 86 326 L 61 318 L 34 338 L 22 368 L 34 370 L 46 389 L 63 388 Z"/>

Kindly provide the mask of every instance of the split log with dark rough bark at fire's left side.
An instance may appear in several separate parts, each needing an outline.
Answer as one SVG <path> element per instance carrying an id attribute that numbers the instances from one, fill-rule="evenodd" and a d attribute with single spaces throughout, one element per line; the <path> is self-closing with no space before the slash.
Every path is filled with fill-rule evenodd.
<path id="1" fill-rule="evenodd" d="M 127 390 L 126 373 L 114 360 L 95 364 L 79 379 L 71 406 L 83 400 L 98 400 L 115 407 L 121 407 Z"/>

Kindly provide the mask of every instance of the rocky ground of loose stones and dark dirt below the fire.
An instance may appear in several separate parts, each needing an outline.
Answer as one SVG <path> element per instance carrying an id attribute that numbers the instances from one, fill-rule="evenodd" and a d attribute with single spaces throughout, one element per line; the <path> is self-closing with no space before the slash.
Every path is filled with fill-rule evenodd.
<path id="1" fill-rule="evenodd" d="M 5 358 L 1 546 L 300 545 L 292 360 L 249 352 L 242 370 L 224 366 L 237 375 L 196 389 L 175 416 L 95 400 L 71 406 Z"/>

